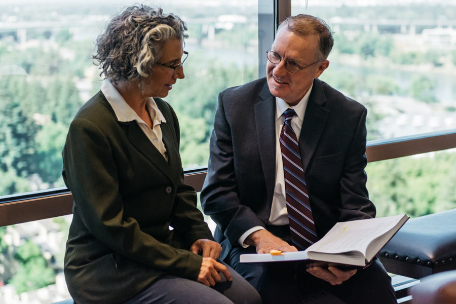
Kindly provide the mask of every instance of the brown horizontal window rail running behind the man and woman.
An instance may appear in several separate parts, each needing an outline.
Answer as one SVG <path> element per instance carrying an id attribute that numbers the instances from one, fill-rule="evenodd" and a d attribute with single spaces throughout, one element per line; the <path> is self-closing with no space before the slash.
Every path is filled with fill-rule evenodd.
<path id="1" fill-rule="evenodd" d="M 456 148 L 456 129 L 367 143 L 368 162 Z M 207 167 L 184 171 L 185 183 L 201 191 Z M 73 197 L 67 188 L 0 198 L 0 226 L 71 214 Z"/>

